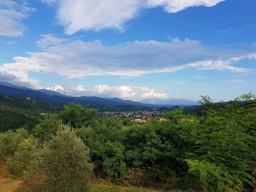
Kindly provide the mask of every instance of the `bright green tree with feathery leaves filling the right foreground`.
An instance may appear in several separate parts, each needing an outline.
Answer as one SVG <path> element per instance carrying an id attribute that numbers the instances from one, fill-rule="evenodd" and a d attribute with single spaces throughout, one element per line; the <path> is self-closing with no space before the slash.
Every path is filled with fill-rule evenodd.
<path id="1" fill-rule="evenodd" d="M 200 179 L 204 191 L 242 191 L 252 185 L 255 115 L 241 101 L 207 106 L 197 129 L 194 155 L 187 159 L 189 172 Z"/>

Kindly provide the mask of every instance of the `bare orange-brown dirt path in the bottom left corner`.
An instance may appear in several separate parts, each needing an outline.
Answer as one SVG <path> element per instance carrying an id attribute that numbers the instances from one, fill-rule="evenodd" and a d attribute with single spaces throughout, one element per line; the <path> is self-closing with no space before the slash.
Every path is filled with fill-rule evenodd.
<path id="1" fill-rule="evenodd" d="M 0 192 L 15 191 L 22 181 L 0 175 Z"/>

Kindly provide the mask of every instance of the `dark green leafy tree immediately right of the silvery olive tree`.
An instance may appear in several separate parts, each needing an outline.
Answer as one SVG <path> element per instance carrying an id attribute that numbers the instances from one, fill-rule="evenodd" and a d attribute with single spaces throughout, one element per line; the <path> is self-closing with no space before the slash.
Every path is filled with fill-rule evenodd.
<path id="1" fill-rule="evenodd" d="M 95 164 L 95 173 L 100 177 L 109 177 L 120 181 L 124 177 L 123 124 L 116 118 L 99 118 L 94 126 L 76 129 L 83 142 L 89 146 L 91 160 Z"/>

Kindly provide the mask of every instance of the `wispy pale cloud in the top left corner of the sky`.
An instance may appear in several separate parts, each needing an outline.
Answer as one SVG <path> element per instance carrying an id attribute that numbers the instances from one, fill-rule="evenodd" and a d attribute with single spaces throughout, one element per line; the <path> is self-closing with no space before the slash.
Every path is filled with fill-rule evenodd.
<path id="1" fill-rule="evenodd" d="M 23 26 L 22 20 L 29 17 L 29 12 L 35 9 L 29 7 L 26 1 L 18 4 L 17 1 L 1 0 L 0 1 L 0 36 L 19 37 L 23 35 L 26 27 Z"/>

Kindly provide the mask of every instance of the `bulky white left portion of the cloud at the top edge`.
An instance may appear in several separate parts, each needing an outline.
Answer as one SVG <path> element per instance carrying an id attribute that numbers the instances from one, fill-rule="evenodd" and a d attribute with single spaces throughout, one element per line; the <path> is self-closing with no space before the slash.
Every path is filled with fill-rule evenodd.
<path id="1" fill-rule="evenodd" d="M 54 1 L 47 0 L 47 3 Z M 122 30 L 124 23 L 134 18 L 141 8 L 138 0 L 59 0 L 58 4 L 57 18 L 67 34 L 102 28 Z"/>

